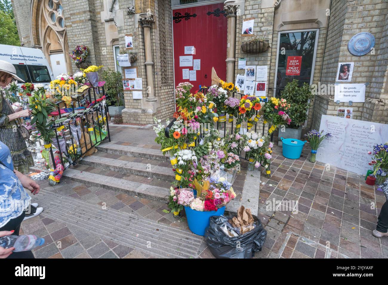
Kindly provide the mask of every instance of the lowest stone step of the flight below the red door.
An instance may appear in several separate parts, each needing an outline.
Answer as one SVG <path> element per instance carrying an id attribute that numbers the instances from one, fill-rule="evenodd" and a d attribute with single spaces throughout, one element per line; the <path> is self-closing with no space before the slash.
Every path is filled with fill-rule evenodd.
<path id="1" fill-rule="evenodd" d="M 168 196 L 170 195 L 170 189 L 167 187 L 147 185 L 131 180 L 106 176 L 101 173 L 96 174 L 88 171 L 68 168 L 63 172 L 63 175 L 77 182 L 124 192 L 129 195 L 145 197 L 156 201 L 168 201 Z"/>

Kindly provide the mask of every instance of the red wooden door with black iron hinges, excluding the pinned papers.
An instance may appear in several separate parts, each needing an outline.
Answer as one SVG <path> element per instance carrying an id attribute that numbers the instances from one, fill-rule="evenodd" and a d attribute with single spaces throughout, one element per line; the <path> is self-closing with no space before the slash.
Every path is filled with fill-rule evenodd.
<path id="1" fill-rule="evenodd" d="M 175 85 L 190 82 L 194 86 L 192 92 L 198 90 L 199 85 L 210 86 L 212 67 L 218 77 L 225 80 L 227 19 L 223 3 L 175 9 L 172 13 Z M 194 46 L 193 60 L 201 60 L 196 81 L 183 79 L 183 69 L 193 70 L 193 66 L 180 66 L 181 56 L 191 56 L 185 54 L 185 46 Z"/>

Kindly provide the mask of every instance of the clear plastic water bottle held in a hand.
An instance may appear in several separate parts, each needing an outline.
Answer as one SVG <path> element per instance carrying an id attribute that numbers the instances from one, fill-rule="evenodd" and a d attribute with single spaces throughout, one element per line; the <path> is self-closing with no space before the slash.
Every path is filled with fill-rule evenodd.
<path id="1" fill-rule="evenodd" d="M 3 248 L 15 247 L 14 252 L 30 251 L 31 249 L 42 246 L 45 239 L 36 235 L 6 235 L 0 237 L 0 246 Z"/>

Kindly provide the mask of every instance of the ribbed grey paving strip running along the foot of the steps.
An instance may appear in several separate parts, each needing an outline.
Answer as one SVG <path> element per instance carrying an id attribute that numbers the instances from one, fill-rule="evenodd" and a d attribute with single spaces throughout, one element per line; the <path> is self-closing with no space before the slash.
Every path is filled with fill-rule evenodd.
<path id="1" fill-rule="evenodd" d="M 34 201 L 44 208 L 44 215 L 66 225 L 78 227 L 102 239 L 135 247 L 158 258 L 197 258 L 202 238 L 189 230 L 170 227 L 137 213 L 125 213 L 61 196 L 42 189 Z M 171 242 L 173 241 L 173 242 Z"/>

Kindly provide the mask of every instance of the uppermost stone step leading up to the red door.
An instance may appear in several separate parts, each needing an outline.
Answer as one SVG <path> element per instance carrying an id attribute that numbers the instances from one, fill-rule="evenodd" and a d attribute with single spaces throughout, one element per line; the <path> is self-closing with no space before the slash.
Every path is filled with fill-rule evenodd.
<path id="1" fill-rule="evenodd" d="M 160 148 L 140 148 L 136 146 L 123 146 L 114 143 L 102 143 L 96 147 L 99 151 L 104 153 L 111 153 L 113 155 L 126 155 L 133 157 L 147 158 L 150 160 L 170 161 L 168 154 L 163 155 Z"/>

